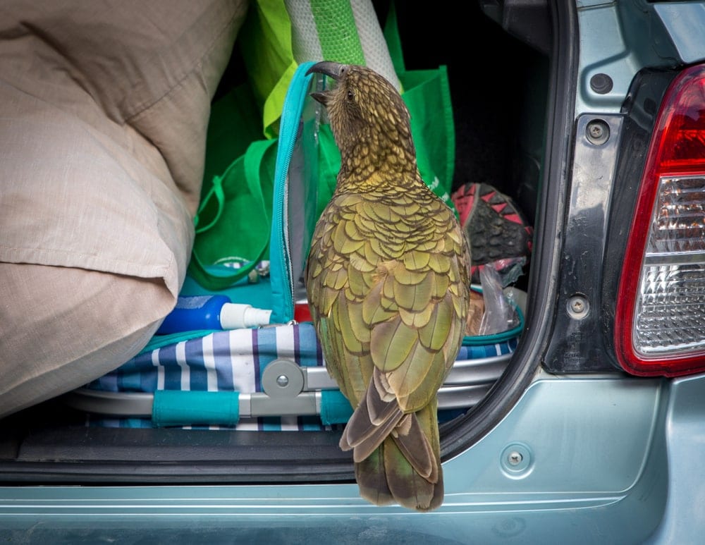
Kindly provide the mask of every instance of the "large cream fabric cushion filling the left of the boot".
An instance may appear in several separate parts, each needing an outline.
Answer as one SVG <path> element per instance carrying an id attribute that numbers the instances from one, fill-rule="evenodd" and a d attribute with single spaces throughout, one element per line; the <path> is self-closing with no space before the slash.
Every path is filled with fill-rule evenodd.
<path id="1" fill-rule="evenodd" d="M 128 360 L 175 304 L 246 11 L 0 3 L 0 416 Z"/>

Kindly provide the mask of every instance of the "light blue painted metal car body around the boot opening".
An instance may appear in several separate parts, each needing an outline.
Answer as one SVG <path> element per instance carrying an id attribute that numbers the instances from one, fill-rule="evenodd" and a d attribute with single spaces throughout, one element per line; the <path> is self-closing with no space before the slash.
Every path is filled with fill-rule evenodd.
<path id="1" fill-rule="evenodd" d="M 651 19 L 645 3 L 622 4 L 576 4 L 575 119 L 618 115 L 632 78 L 658 66 L 666 42 L 685 63 L 705 58 L 705 3 L 650 4 Z M 651 34 L 644 23 L 654 18 Z M 589 88 L 595 73 L 611 75 L 611 92 Z M 524 353 L 540 357 L 541 346 Z M 446 498 L 431 513 L 372 506 L 354 483 L 11 484 L 0 486 L 0 541 L 702 543 L 704 453 L 705 376 L 539 371 L 501 422 L 443 463 Z"/>

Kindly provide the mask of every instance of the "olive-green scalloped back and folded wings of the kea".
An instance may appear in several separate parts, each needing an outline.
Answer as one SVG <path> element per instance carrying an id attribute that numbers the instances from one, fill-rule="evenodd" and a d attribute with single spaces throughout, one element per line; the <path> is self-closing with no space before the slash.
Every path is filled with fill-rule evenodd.
<path id="1" fill-rule="evenodd" d="M 341 441 L 356 459 L 435 400 L 465 331 L 465 239 L 445 204 L 417 199 L 344 195 L 314 233 L 307 287 L 326 366 L 353 407 L 365 405 Z"/>

